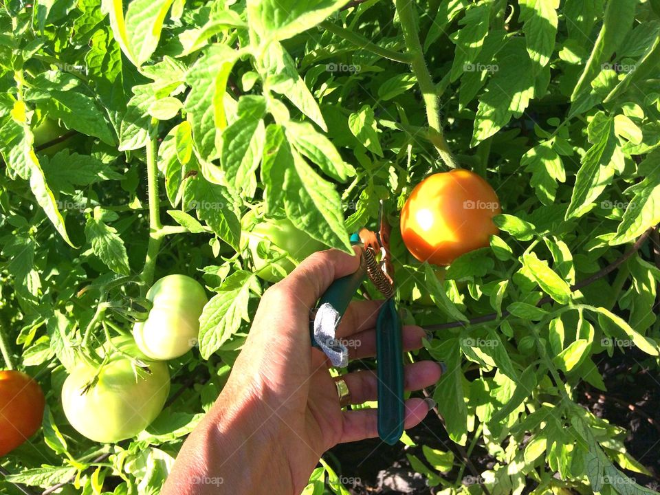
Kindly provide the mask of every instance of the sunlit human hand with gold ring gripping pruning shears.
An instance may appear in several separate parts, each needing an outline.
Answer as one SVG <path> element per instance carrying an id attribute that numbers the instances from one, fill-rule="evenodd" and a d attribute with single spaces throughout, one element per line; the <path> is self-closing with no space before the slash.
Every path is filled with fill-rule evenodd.
<path id="1" fill-rule="evenodd" d="M 298 494 L 320 456 L 337 443 L 377 437 L 375 409 L 342 410 L 329 360 L 311 348 L 309 311 L 336 278 L 358 269 L 358 256 L 338 250 L 313 254 L 283 281 L 268 289 L 256 311 L 250 335 L 236 359 L 217 403 L 179 453 L 164 494 L 217 493 L 222 480 L 232 493 Z M 375 322 L 382 300 L 354 301 L 337 338 L 351 360 L 375 355 Z M 419 349 L 420 327 L 402 332 L 405 350 Z M 423 361 L 406 366 L 406 390 L 436 383 L 441 366 Z M 377 399 L 372 371 L 343 375 L 351 404 Z M 406 401 L 405 427 L 417 425 L 432 404 Z M 169 491 L 168 491 L 169 490 Z"/>

